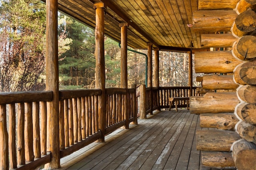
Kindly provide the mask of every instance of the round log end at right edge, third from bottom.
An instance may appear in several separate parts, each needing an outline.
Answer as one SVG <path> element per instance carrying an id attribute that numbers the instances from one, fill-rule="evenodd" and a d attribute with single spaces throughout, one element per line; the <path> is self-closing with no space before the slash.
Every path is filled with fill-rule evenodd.
<path id="1" fill-rule="evenodd" d="M 236 114 L 240 119 L 256 124 L 256 104 L 241 103 L 236 108 Z"/>

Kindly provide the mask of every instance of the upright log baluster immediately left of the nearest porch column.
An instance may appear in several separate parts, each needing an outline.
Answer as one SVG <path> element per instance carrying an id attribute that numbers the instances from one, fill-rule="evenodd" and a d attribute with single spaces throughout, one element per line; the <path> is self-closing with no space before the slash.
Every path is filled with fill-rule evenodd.
<path id="1" fill-rule="evenodd" d="M 46 137 L 47 137 L 47 106 L 46 102 L 40 102 L 40 113 L 41 113 L 41 154 L 46 155 Z"/>

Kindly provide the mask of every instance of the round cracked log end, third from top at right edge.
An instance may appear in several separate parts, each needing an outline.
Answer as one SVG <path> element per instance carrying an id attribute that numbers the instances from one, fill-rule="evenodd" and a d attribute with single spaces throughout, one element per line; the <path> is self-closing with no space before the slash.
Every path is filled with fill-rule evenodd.
<path id="1" fill-rule="evenodd" d="M 240 60 L 250 60 L 256 57 L 256 37 L 245 35 L 233 45 L 234 55 Z"/>

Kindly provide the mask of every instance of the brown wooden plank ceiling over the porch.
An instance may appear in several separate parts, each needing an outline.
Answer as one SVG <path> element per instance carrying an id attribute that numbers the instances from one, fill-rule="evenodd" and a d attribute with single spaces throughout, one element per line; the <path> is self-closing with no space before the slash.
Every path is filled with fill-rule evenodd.
<path id="1" fill-rule="evenodd" d="M 96 0 L 58 0 L 59 10 L 95 27 Z M 146 49 L 147 43 L 160 50 L 186 51 L 192 41 L 200 48 L 200 33 L 192 23 L 198 0 L 101 0 L 106 8 L 105 34 L 120 42 L 120 23 L 128 23 L 128 45 Z"/>

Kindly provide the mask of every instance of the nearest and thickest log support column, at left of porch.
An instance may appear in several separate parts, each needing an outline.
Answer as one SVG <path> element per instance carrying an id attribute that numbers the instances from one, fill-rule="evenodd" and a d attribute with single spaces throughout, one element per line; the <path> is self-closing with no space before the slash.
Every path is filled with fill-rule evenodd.
<path id="1" fill-rule="evenodd" d="M 58 76 L 58 0 L 46 1 L 46 90 L 52 91 L 47 102 L 47 151 L 51 162 L 46 169 L 60 168 L 59 76 Z"/>

